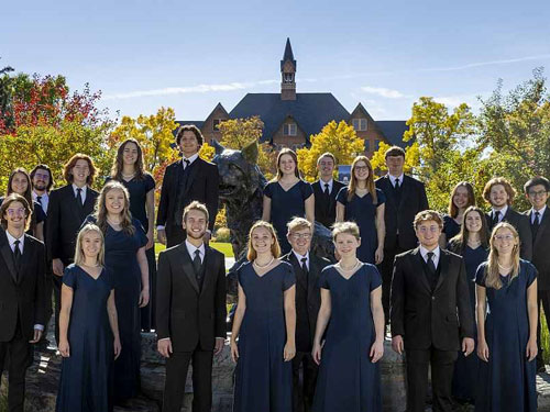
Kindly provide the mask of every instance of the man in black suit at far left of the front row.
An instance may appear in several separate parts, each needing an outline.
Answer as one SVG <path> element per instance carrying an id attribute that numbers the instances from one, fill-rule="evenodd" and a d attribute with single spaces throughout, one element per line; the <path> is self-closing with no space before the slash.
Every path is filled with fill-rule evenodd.
<path id="1" fill-rule="evenodd" d="M 8 410 L 23 412 L 31 344 L 44 331 L 44 244 L 26 235 L 31 208 L 12 193 L 0 208 L 0 377 L 9 357 Z"/>

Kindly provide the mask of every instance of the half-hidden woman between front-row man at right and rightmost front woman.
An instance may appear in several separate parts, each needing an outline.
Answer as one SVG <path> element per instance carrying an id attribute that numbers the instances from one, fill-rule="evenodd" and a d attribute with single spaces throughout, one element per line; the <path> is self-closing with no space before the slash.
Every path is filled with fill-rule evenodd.
<path id="1" fill-rule="evenodd" d="M 464 223 L 460 233 L 451 238 L 448 249 L 462 256 L 466 267 L 468 290 L 472 305 L 472 321 L 475 324 L 475 274 L 477 267 L 487 260 L 488 233 L 485 213 L 477 207 L 470 207 L 464 212 Z M 474 336 L 476 339 L 476 336 Z M 461 403 L 474 403 L 477 388 L 480 359 L 477 356 L 465 357 L 459 350 L 452 378 L 452 396 Z"/>

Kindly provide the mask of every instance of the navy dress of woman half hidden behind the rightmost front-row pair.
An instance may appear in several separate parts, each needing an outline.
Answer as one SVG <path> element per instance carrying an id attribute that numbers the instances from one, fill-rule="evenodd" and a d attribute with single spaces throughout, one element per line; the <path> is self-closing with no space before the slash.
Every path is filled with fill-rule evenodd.
<path id="1" fill-rule="evenodd" d="M 470 292 L 470 305 L 472 308 L 473 324 L 475 322 L 475 274 L 477 267 L 487 260 L 488 252 L 479 246 L 473 249 L 466 246 L 462 252 L 464 265 L 466 267 L 468 290 Z M 477 345 L 477 331 L 475 331 L 475 343 Z M 454 375 L 452 378 L 452 394 L 454 398 L 463 401 L 474 401 L 477 388 L 477 374 L 480 372 L 480 358 L 475 353 L 464 357 L 462 350 L 459 350 L 459 357 L 454 364 Z"/>

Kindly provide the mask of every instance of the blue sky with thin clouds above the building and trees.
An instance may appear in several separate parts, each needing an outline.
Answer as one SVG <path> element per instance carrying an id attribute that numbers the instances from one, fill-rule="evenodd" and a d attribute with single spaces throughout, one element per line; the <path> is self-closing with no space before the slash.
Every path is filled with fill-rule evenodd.
<path id="1" fill-rule="evenodd" d="M 375 120 L 408 119 L 420 96 L 475 108 L 499 78 L 550 70 L 548 0 L 10 1 L 2 14 L 0 66 L 89 82 L 112 116 L 164 105 L 204 120 L 277 92 L 287 36 L 298 92 L 362 102 Z"/>

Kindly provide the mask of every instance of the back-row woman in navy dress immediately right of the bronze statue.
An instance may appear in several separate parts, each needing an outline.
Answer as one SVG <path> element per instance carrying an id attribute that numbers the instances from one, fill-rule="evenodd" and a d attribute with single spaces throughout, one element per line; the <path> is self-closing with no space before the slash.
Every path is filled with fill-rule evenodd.
<path id="1" fill-rule="evenodd" d="M 315 196 L 311 185 L 300 179 L 298 157 L 289 148 L 277 156 L 277 176 L 264 188 L 262 220 L 275 227 L 283 255 L 290 252 L 286 224 L 293 218 L 306 218 L 315 224 Z"/>

